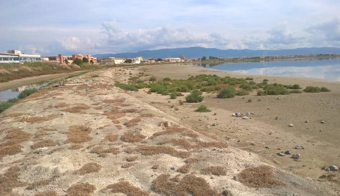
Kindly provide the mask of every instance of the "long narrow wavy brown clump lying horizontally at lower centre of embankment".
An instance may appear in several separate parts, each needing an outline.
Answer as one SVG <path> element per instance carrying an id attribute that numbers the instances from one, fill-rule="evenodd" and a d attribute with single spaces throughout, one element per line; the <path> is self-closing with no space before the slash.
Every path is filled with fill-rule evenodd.
<path id="1" fill-rule="evenodd" d="M 178 151 L 172 147 L 168 146 L 147 146 L 147 145 L 140 145 L 136 149 L 137 152 L 140 152 L 143 155 L 154 155 L 154 154 L 169 154 L 175 157 L 186 158 L 190 155 L 190 152 L 186 151 Z"/>

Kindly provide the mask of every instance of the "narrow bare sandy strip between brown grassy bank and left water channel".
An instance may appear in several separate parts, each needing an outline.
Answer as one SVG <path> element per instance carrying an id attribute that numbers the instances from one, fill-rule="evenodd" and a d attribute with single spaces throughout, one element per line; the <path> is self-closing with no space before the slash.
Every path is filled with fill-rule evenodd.
<path id="1" fill-rule="evenodd" d="M 20 87 L 20 86 L 28 85 L 32 83 L 38 83 L 41 81 L 62 78 L 62 77 L 76 74 L 79 72 L 83 72 L 83 71 L 75 71 L 75 72 L 61 73 L 61 74 L 49 74 L 49 75 L 35 76 L 35 77 L 30 77 L 30 78 L 22 78 L 18 80 L 11 80 L 9 82 L 2 82 L 0 83 L 0 91 L 10 89 L 10 88 L 16 88 L 16 87 Z"/>

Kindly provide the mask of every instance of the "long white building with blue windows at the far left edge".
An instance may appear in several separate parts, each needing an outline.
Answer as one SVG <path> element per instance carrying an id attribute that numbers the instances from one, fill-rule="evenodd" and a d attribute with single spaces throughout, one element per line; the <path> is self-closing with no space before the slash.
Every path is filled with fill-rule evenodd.
<path id="1" fill-rule="evenodd" d="M 40 55 L 22 54 L 20 50 L 8 50 L 0 53 L 0 64 L 12 64 L 41 61 Z"/>

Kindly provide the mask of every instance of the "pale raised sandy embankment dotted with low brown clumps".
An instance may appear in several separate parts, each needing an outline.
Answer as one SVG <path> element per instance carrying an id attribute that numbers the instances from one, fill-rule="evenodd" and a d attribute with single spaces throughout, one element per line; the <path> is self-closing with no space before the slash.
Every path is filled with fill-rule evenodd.
<path id="1" fill-rule="evenodd" d="M 332 188 L 276 166 L 270 166 L 274 178 L 266 179 L 279 180 L 281 185 L 245 185 L 234 176 L 268 164 L 257 153 L 226 143 L 232 143 L 232 131 L 238 130 L 239 137 L 265 132 L 262 122 L 233 119 L 229 112 L 223 115 L 223 108 L 216 109 L 216 116 L 198 117 L 191 112 L 195 107 L 191 104 L 173 111 L 164 106 L 178 100 L 168 103 L 165 96 L 158 96 L 150 105 L 143 91 L 113 86 L 126 80 L 128 72 L 137 74 L 141 69 L 87 73 L 68 80 L 82 85 L 40 90 L 3 112 L 0 194 L 165 195 L 181 184 L 183 195 L 221 195 L 223 191 L 224 195 L 226 191 L 231 195 L 337 195 Z M 199 118 L 206 124 L 200 124 Z M 220 120 L 210 130 L 212 118 Z M 231 130 L 219 131 L 220 125 Z M 201 131 L 201 126 L 210 133 Z M 247 130 L 247 126 L 253 128 Z M 184 143 L 176 144 L 179 140 Z M 188 171 L 180 171 L 186 164 Z M 223 172 L 203 172 L 209 166 Z M 162 174 L 172 178 L 160 180 Z M 253 175 L 248 176 L 252 180 Z"/>

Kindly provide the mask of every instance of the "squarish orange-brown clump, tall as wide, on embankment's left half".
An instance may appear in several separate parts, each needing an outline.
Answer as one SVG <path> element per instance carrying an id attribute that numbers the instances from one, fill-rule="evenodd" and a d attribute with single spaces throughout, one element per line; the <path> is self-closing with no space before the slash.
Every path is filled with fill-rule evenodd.
<path id="1" fill-rule="evenodd" d="M 91 141 L 92 137 L 89 136 L 92 129 L 84 125 L 73 125 L 70 126 L 68 132 L 68 139 L 73 143 L 82 143 Z"/>

